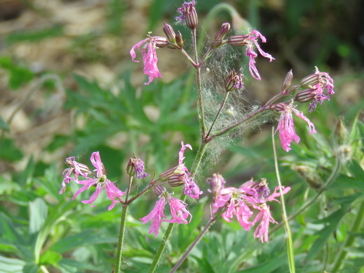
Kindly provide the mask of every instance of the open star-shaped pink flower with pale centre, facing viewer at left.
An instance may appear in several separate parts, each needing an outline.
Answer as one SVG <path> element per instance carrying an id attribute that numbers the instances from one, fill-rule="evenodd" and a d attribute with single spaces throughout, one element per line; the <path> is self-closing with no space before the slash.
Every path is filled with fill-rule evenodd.
<path id="1" fill-rule="evenodd" d="M 95 186 L 96 190 L 92 194 L 91 198 L 89 200 L 82 201 L 82 203 L 84 203 L 84 204 L 89 203 L 91 206 L 95 207 L 94 205 L 92 205 L 92 202 L 94 202 L 96 200 L 96 198 L 99 196 L 102 189 L 104 188 L 106 191 L 107 197 L 112 201 L 111 205 L 108 207 L 108 210 L 111 210 L 115 206 L 115 203 L 119 202 L 119 200 L 116 201 L 115 198 L 122 197 L 122 195 L 124 195 L 125 192 L 119 190 L 114 185 L 114 183 L 116 181 L 111 182 L 109 179 L 107 179 L 105 167 L 104 167 L 103 163 L 101 162 L 99 152 L 92 153 L 90 160 L 91 160 L 92 165 L 94 165 L 94 167 L 96 168 L 94 170 L 94 171 L 96 171 L 96 175 L 94 175 L 95 178 L 87 177 L 86 173 L 80 173 L 84 178 L 86 178 L 86 180 L 78 180 L 77 176 L 75 179 L 70 178 L 73 181 L 75 181 L 76 183 L 84 185 L 78 191 L 76 191 L 76 193 L 74 194 L 72 199 L 75 199 L 76 196 L 79 195 L 80 193 L 82 193 L 83 191 L 90 189 L 91 186 Z M 60 191 L 60 193 L 62 193 L 62 192 Z"/>

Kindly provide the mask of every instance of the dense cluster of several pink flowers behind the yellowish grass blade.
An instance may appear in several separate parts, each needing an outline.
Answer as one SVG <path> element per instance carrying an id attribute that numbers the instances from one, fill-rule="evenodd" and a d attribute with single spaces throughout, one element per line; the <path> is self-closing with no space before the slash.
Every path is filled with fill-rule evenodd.
<path id="1" fill-rule="evenodd" d="M 276 199 L 280 195 L 280 193 L 277 193 L 279 187 L 276 187 L 274 192 L 269 195 L 266 179 L 256 182 L 252 178 L 238 188 L 225 188 L 225 180 L 219 174 L 214 174 L 212 178 L 207 179 L 207 182 L 210 184 L 211 193 L 213 194 L 212 213 L 222 209 L 222 218 L 227 222 L 232 222 L 231 218 L 235 215 L 241 227 L 247 231 L 260 221 L 254 232 L 254 237 L 261 238 L 262 242 L 268 242 L 269 222 L 277 222 L 270 214 L 266 202 L 273 200 L 279 202 Z M 289 190 L 290 187 L 282 187 L 282 194 L 287 193 Z M 258 214 L 251 220 L 253 210 L 258 210 Z"/>

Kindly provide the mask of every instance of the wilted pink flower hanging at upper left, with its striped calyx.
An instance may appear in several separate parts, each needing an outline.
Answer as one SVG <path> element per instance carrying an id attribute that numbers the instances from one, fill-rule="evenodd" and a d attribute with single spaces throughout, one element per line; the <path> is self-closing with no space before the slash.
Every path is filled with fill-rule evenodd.
<path id="1" fill-rule="evenodd" d="M 158 67 L 157 67 L 158 59 L 157 59 L 157 53 L 155 52 L 155 50 L 159 47 L 167 46 L 168 41 L 166 38 L 159 37 L 159 36 L 155 36 L 155 37 L 148 36 L 148 38 L 141 40 L 139 43 L 135 44 L 130 50 L 130 55 L 131 55 L 133 62 L 136 62 L 136 63 L 139 62 L 139 61 L 134 60 L 137 57 L 137 54 L 135 54 L 135 49 L 138 49 L 140 51 L 139 48 L 141 47 L 142 44 L 145 44 L 143 46 L 143 50 L 142 50 L 143 62 L 144 62 L 144 74 L 149 75 L 149 82 L 147 82 L 145 84 L 150 84 L 154 78 L 158 78 L 158 77 L 162 78 L 162 75 L 159 72 Z M 148 51 L 147 51 L 147 49 L 148 49 Z"/>

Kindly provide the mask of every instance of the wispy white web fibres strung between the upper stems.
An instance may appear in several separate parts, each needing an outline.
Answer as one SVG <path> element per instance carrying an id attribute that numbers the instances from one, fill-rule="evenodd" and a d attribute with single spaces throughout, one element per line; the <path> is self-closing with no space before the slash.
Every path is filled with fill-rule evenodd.
<path id="1" fill-rule="evenodd" d="M 207 45 L 209 48 L 210 45 Z M 225 80 L 230 71 L 234 68 L 236 72 L 241 69 L 242 74 L 249 73 L 241 67 L 242 56 L 237 47 L 224 46 L 213 51 L 210 58 L 201 67 L 201 82 L 203 108 L 205 112 L 206 131 L 209 128 L 221 106 L 225 95 Z M 245 54 L 244 54 L 245 55 Z M 203 55 L 202 55 L 203 56 Z M 244 57 L 243 57 L 244 58 Z M 210 135 L 219 132 L 237 122 L 243 120 L 253 112 L 257 111 L 261 105 L 248 102 L 245 97 L 245 88 L 236 89 L 229 93 L 224 107 L 216 120 Z M 215 164 L 219 161 L 221 153 L 226 150 L 237 139 L 243 138 L 243 132 L 259 127 L 270 120 L 269 114 L 260 114 L 258 118 L 253 118 L 243 122 L 234 130 L 227 132 L 213 139 L 208 145 L 205 153 L 205 164 Z"/>

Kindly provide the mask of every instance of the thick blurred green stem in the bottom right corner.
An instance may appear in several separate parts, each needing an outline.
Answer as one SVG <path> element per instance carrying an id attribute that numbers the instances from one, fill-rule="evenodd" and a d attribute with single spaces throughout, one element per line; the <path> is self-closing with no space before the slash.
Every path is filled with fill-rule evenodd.
<path id="1" fill-rule="evenodd" d="M 358 211 L 356 212 L 350 232 L 347 233 L 343 246 L 340 248 L 339 253 L 337 253 L 337 255 L 335 257 L 334 265 L 331 270 L 332 272 L 339 272 L 338 270 L 340 269 L 341 262 L 344 260 L 345 256 L 348 253 L 344 249 L 348 248 L 349 246 L 351 246 L 353 244 L 354 239 L 355 239 L 355 233 L 359 231 L 360 226 L 363 223 L 363 219 L 364 219 L 364 202 L 361 202 L 360 206 L 358 208 Z"/>

